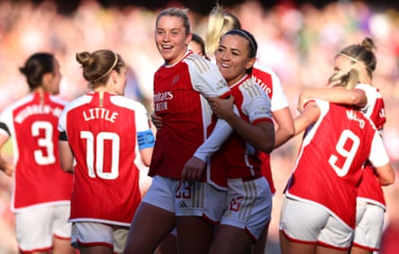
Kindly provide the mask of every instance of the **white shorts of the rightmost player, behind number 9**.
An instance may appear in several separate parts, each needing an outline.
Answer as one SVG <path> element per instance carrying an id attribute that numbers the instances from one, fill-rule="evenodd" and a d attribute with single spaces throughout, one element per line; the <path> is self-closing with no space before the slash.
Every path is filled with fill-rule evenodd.
<path id="1" fill-rule="evenodd" d="M 385 210 L 362 200 L 357 200 L 356 228 L 353 245 L 377 251 L 381 242 Z"/>

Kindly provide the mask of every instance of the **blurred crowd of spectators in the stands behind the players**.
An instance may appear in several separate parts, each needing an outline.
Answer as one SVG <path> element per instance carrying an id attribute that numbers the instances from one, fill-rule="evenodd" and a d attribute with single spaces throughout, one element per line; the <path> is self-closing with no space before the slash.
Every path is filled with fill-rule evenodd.
<path id="1" fill-rule="evenodd" d="M 237 15 L 242 27 L 255 35 L 258 58 L 279 74 L 294 116 L 300 90 L 325 85 L 334 71 L 334 54 L 344 46 L 360 43 L 365 36 L 372 37 L 377 44 L 373 85 L 386 101 L 384 140 L 398 169 L 399 118 L 395 117 L 395 111 L 399 109 L 399 13 L 395 9 L 357 1 L 338 1 L 322 8 L 312 4 L 277 4 L 265 9 L 256 1 L 246 1 L 227 10 Z M 90 0 L 81 1 L 73 13 L 62 13 L 53 1 L 41 4 L 0 1 L 0 111 L 29 92 L 18 68 L 33 52 L 48 51 L 56 55 L 63 74 L 60 97 L 70 101 L 88 91 L 75 60 L 76 52 L 109 48 L 121 54 L 130 66 L 126 96 L 142 101 L 151 112 L 152 77 L 162 63 L 153 42 L 158 11 L 135 5 L 104 8 Z M 189 11 L 189 16 L 192 30 L 204 36 L 207 16 L 194 10 Z M 272 154 L 277 194 L 273 200 L 269 241 L 278 241 L 282 190 L 298 151 L 299 138 Z M 4 153 L 12 159 L 11 147 Z M 12 180 L 0 173 L 0 253 L 4 254 L 16 253 L 13 213 L 9 209 L 12 185 Z M 386 228 L 395 225 L 397 234 L 386 236 L 386 240 L 399 238 L 398 186 L 396 180 L 394 186 L 385 188 Z M 388 253 L 383 251 L 381 254 Z"/>

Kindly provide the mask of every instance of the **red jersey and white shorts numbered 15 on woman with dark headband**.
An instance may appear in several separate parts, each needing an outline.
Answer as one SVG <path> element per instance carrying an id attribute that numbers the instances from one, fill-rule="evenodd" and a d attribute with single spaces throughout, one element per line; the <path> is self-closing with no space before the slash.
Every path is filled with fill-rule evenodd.
<path id="1" fill-rule="evenodd" d="M 267 94 L 249 75 L 231 85 L 230 90 L 240 118 L 252 125 L 273 121 Z M 221 224 L 246 230 L 256 242 L 265 224 L 270 222 L 272 212 L 272 194 L 261 171 L 264 162 L 260 160 L 260 152 L 233 132 L 213 161 L 217 169 L 227 170 L 229 183 Z"/>

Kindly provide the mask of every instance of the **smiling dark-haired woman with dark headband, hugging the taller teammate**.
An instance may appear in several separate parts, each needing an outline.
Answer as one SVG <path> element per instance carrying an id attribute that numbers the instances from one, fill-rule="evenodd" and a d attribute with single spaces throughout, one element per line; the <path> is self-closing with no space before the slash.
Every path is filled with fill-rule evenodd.
<path id="1" fill-rule="evenodd" d="M 212 99 L 214 113 L 225 119 L 235 132 L 215 156 L 218 169 L 228 177 L 228 197 L 221 225 L 208 253 L 251 253 L 251 248 L 271 220 L 272 194 L 262 177 L 260 151 L 271 153 L 274 127 L 271 102 L 251 78 L 256 62 L 256 39 L 245 30 L 226 32 L 216 50 L 216 64 L 234 96 Z M 230 244 L 226 244 L 230 242 Z"/>

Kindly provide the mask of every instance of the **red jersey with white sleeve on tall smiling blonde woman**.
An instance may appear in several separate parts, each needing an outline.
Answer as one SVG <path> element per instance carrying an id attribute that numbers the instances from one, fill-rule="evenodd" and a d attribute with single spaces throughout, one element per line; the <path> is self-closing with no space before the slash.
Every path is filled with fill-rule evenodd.
<path id="1" fill-rule="evenodd" d="M 188 51 L 173 66 L 160 66 L 154 76 L 154 111 L 162 118 L 149 175 L 180 179 L 184 165 L 211 134 L 215 118 L 206 98 L 230 94 L 219 69 Z M 225 185 L 221 171 L 204 174 L 216 186 Z"/>

